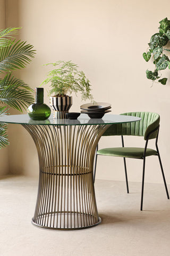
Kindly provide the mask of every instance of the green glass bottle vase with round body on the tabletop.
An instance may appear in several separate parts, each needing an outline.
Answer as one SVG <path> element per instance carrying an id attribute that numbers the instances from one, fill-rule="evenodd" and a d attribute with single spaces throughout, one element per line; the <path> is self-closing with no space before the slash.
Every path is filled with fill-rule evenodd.
<path id="1" fill-rule="evenodd" d="M 35 88 L 35 103 L 29 106 L 27 113 L 32 120 L 46 120 L 50 114 L 50 108 L 44 103 L 44 88 Z"/>

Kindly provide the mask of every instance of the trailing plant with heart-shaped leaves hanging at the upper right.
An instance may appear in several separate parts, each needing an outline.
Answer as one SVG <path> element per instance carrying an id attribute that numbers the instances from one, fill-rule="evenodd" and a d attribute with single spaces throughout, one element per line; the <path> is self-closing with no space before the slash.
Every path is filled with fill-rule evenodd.
<path id="1" fill-rule="evenodd" d="M 147 78 L 165 85 L 167 78 L 159 78 L 161 77 L 160 70 L 164 70 L 167 67 L 170 69 L 170 60 L 167 56 L 167 52 L 170 52 L 170 50 L 167 47 L 164 48 L 170 41 L 170 20 L 165 18 L 159 23 L 159 33 L 151 36 L 148 44 L 149 50 L 143 53 L 143 58 L 148 62 L 152 57 L 155 65 L 154 71 L 146 70 Z"/>

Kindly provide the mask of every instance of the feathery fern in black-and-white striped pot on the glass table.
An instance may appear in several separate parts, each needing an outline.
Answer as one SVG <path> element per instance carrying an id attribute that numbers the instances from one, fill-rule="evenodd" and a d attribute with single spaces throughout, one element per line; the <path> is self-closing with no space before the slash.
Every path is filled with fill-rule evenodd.
<path id="1" fill-rule="evenodd" d="M 71 61 L 56 61 L 48 63 L 55 67 L 52 71 L 47 73 L 46 78 L 42 84 L 50 84 L 49 94 L 50 106 L 54 110 L 54 118 L 66 118 L 66 113 L 69 112 L 72 106 L 72 96 L 74 92 L 81 93 L 82 100 L 92 100 L 90 81 L 84 75 L 83 71 L 78 70 L 78 65 Z"/>

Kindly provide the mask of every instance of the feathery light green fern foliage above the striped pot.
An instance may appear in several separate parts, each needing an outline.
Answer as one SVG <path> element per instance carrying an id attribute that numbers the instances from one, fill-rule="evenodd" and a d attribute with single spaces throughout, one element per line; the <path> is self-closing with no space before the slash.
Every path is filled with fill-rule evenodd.
<path id="1" fill-rule="evenodd" d="M 90 81 L 86 78 L 83 71 L 78 70 L 78 65 L 71 61 L 61 60 L 55 63 L 48 63 L 47 65 L 53 65 L 55 67 L 55 69 L 47 73 L 48 78 L 42 83 L 51 83 L 50 95 L 55 94 L 55 96 L 63 97 L 72 92 L 75 92 L 75 94 L 80 92 L 82 100 L 93 99 Z"/>

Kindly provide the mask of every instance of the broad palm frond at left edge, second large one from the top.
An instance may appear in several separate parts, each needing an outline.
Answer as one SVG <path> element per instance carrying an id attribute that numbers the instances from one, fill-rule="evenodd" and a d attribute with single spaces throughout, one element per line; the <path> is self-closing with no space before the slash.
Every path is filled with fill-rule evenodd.
<path id="1" fill-rule="evenodd" d="M 0 49 L 0 73 L 11 70 L 25 68 L 34 58 L 35 50 L 32 50 L 33 45 L 26 44 L 20 40 L 13 42 L 13 45 L 2 47 Z"/>

